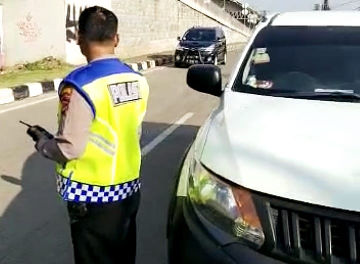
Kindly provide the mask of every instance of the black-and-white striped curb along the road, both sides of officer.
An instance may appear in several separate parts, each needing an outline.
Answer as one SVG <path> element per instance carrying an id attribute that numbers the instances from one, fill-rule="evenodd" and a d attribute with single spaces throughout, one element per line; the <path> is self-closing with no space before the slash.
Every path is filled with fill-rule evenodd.
<path id="1" fill-rule="evenodd" d="M 172 61 L 173 57 L 172 55 L 169 55 L 164 58 L 125 64 L 131 67 L 134 71 L 141 71 L 154 68 L 156 66 L 166 65 Z M 10 104 L 29 97 L 36 97 L 48 92 L 58 91 L 61 81 L 62 78 L 58 78 L 52 81 L 32 82 L 11 88 L 0 88 L 0 105 Z"/>

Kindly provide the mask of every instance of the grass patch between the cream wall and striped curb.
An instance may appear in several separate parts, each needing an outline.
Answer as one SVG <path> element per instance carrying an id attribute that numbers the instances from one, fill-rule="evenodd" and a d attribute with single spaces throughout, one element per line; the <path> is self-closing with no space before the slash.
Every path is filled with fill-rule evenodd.
<path id="1" fill-rule="evenodd" d="M 0 88 L 11 88 L 29 82 L 51 81 L 65 77 L 74 66 L 53 57 L 16 65 L 0 75 Z"/>

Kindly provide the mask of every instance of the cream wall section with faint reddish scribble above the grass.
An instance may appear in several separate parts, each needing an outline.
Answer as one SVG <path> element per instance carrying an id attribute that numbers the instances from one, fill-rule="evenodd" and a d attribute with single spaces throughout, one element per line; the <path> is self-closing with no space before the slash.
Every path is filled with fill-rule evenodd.
<path id="1" fill-rule="evenodd" d="M 63 0 L 3 0 L 5 65 L 65 58 Z"/>

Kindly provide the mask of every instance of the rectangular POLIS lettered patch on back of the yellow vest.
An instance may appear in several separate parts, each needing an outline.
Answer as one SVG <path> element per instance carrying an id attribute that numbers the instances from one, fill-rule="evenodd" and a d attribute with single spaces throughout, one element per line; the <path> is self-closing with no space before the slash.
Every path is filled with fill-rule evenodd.
<path id="1" fill-rule="evenodd" d="M 139 81 L 119 82 L 108 85 L 112 103 L 118 106 L 141 99 Z"/>

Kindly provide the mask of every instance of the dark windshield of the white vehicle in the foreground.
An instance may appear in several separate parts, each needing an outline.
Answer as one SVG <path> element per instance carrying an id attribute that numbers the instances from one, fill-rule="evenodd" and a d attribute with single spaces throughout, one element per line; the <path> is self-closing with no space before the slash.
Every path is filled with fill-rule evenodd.
<path id="1" fill-rule="evenodd" d="M 268 27 L 255 38 L 234 90 L 359 101 L 360 28 Z"/>

